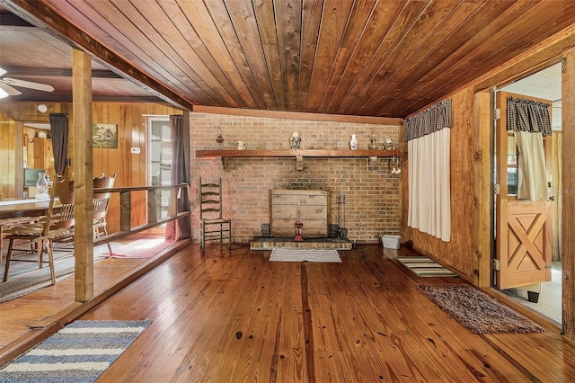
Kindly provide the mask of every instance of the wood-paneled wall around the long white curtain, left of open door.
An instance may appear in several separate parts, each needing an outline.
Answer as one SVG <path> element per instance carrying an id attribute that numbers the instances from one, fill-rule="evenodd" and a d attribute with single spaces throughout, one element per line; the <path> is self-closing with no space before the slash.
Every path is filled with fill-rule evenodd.
<path id="1" fill-rule="evenodd" d="M 474 120 L 472 88 L 467 88 L 452 97 L 451 128 L 451 242 L 443 242 L 417 229 L 405 226 L 403 239 L 412 240 L 413 246 L 422 254 L 437 259 L 440 263 L 455 269 L 462 277 L 472 280 L 479 272 L 479 261 L 475 254 L 475 210 L 474 166 L 475 147 L 473 141 Z M 407 146 L 406 146 L 407 147 Z M 407 157 L 407 155 L 406 155 Z M 407 167 L 405 172 L 407 173 Z M 407 176 L 404 177 L 403 214 L 407 216 Z"/>

